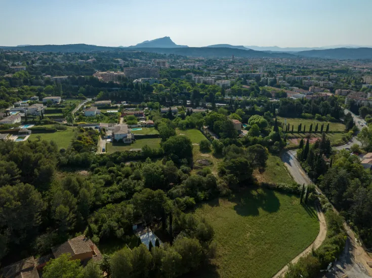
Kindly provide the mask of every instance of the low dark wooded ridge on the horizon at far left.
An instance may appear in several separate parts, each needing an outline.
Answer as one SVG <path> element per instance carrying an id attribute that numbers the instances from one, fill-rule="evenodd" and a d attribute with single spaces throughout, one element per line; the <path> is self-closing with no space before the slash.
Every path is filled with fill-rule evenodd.
<path id="1" fill-rule="evenodd" d="M 46 45 L 28 45 L 26 47 L 0 47 L 0 49 L 36 51 L 36 52 L 92 52 L 92 51 L 122 51 L 122 48 L 97 47 L 90 44 L 46 44 Z"/>

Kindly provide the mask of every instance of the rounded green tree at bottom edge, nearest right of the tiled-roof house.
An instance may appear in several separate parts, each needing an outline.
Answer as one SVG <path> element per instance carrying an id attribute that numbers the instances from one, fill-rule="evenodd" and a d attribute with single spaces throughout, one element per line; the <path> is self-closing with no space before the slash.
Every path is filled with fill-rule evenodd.
<path id="1" fill-rule="evenodd" d="M 121 278 L 123 273 L 131 277 L 133 270 L 133 252 L 129 248 L 116 251 L 111 257 L 110 269 L 112 278 Z"/>

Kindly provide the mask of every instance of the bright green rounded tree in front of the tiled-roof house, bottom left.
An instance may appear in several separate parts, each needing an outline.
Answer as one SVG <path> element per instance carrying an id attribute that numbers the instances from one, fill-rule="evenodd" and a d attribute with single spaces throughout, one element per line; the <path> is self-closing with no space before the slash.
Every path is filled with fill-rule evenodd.
<path id="1" fill-rule="evenodd" d="M 69 253 L 51 259 L 44 267 L 44 278 L 84 278 L 80 260 L 71 260 Z"/>

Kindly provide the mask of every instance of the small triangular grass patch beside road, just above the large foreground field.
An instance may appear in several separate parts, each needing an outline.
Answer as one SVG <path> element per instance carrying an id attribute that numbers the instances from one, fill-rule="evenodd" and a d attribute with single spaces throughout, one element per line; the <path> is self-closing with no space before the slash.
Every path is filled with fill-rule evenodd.
<path id="1" fill-rule="evenodd" d="M 253 175 L 259 182 L 292 183 L 293 178 L 288 173 L 280 157 L 269 155 L 265 171 L 255 170 Z"/>

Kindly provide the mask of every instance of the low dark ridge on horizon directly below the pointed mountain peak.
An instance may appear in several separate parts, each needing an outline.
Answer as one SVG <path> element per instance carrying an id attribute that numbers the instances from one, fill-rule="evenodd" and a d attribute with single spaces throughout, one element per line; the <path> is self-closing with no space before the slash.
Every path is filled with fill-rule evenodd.
<path id="1" fill-rule="evenodd" d="M 268 53 L 254 50 L 242 50 L 234 48 L 138 48 L 145 52 L 154 52 L 160 54 L 176 54 L 182 56 L 193 56 L 193 57 L 273 57 L 273 58 L 291 58 L 295 57 L 288 53 Z"/>

